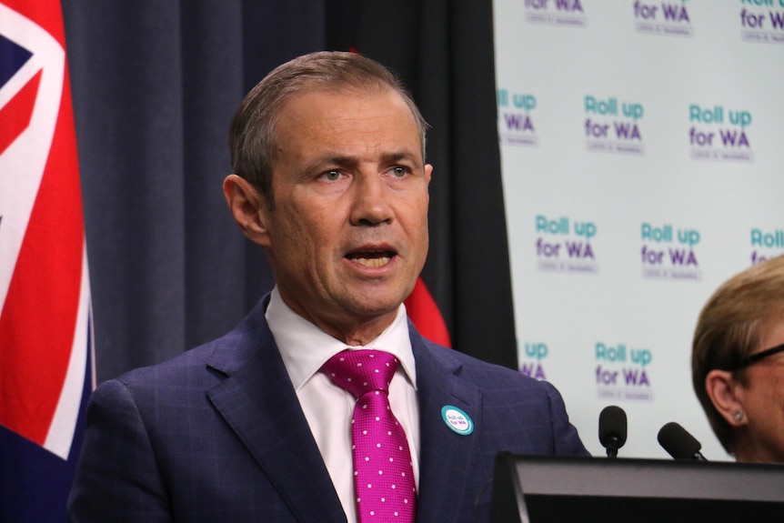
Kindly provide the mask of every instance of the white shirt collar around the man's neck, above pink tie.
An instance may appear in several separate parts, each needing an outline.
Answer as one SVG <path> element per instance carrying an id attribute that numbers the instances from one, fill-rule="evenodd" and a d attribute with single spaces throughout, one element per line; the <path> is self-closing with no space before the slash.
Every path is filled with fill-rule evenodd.
<path id="1" fill-rule="evenodd" d="M 411 339 L 408 337 L 406 306 L 402 303 L 397 307 L 392 323 L 376 339 L 364 346 L 349 347 L 299 316 L 284 303 L 277 287 L 272 290 L 265 317 L 288 376 L 297 390 L 318 372 L 327 359 L 347 348 L 375 348 L 394 355 L 400 361 L 400 367 L 408 380 L 417 388 L 417 367 L 411 350 Z"/>

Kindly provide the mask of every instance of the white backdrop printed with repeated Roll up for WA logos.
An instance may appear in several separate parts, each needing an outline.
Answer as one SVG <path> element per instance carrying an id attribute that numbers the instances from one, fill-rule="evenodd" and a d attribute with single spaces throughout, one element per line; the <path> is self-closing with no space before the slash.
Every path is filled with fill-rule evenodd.
<path id="1" fill-rule="evenodd" d="M 699 310 L 784 254 L 784 0 L 495 0 L 498 131 L 522 371 L 595 456 L 730 459 L 691 387 Z"/>

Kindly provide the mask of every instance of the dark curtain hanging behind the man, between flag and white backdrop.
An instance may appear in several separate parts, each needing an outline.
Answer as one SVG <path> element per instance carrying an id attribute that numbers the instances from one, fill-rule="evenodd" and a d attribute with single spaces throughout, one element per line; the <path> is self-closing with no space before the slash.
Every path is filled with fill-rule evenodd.
<path id="1" fill-rule="evenodd" d="M 459 92 L 461 86 L 454 85 L 457 78 L 448 75 L 454 75 L 453 67 L 464 60 L 480 58 L 485 63 L 482 74 L 489 73 L 490 82 L 480 107 L 490 111 L 492 128 L 482 131 L 483 136 L 489 135 L 479 141 L 493 144 L 490 176 L 500 190 L 491 86 L 492 21 L 487 17 L 490 1 L 456 2 L 451 9 L 446 0 L 399 3 L 402 14 L 392 15 L 414 24 L 411 31 L 425 35 L 426 24 L 442 25 L 438 42 L 418 37 L 407 42 L 408 36 L 390 24 L 393 20 L 363 24 L 360 16 L 367 13 L 361 12 L 360 5 L 373 4 L 351 0 L 63 1 L 99 381 L 226 333 L 272 287 L 263 252 L 240 234 L 226 208 L 221 183 L 230 170 L 227 128 L 236 106 L 252 85 L 287 59 L 320 49 L 348 49 L 357 38 L 357 26 L 391 43 L 405 44 L 409 57 L 420 55 L 420 45 L 436 45 L 427 60 L 447 76 L 429 85 L 415 79 L 417 86 L 424 87 L 417 101 L 421 104 L 418 98 L 427 96 L 432 85 L 443 91 L 430 91 L 429 96 L 446 104 L 451 115 L 461 110 L 457 99 L 451 98 L 453 89 Z M 426 14 L 425 5 L 431 11 L 436 6 L 436 10 Z M 476 20 L 470 15 L 477 5 L 486 17 L 479 21 L 478 38 L 472 33 Z M 464 42 L 467 36 L 470 44 Z M 483 50 L 477 55 L 478 47 Z M 465 57 L 450 55 L 455 52 Z M 373 56 L 369 51 L 366 54 Z M 385 61 L 383 56 L 376 57 Z M 419 75 L 427 75 L 427 64 L 418 67 Z M 463 93 L 460 103 L 469 102 L 471 96 Z M 448 127 L 470 127 L 472 117 L 431 122 L 430 143 L 470 151 L 470 136 L 450 144 L 455 136 Z M 431 213 L 431 227 L 434 248 L 439 251 L 432 257 L 441 268 L 435 267 L 436 261 L 428 261 L 427 270 L 444 277 L 431 290 L 447 311 L 458 350 L 514 367 L 506 228 L 503 223 L 500 229 L 494 225 L 495 236 L 485 236 L 475 230 L 487 226 L 482 220 L 478 226 L 471 225 L 488 206 L 500 209 L 503 216 L 503 202 L 480 197 L 469 208 L 451 207 L 454 195 L 447 166 L 452 161 L 454 168 L 462 160 L 444 153 L 437 157 L 446 158 L 446 166 L 436 166 L 437 176 L 444 181 L 431 189 L 438 202 L 436 213 Z M 477 161 L 484 157 L 480 155 Z M 469 166 L 476 168 L 477 162 Z M 475 188 L 467 186 L 465 191 L 470 194 Z M 464 196 L 460 205 L 465 206 L 465 200 Z M 465 218 L 455 222 L 457 215 Z M 482 238 L 495 238 L 499 230 L 502 245 L 487 246 L 487 239 Z M 488 248 L 493 252 L 488 253 Z M 501 258 L 494 254 L 498 249 Z M 461 280 L 463 290 L 450 290 L 457 281 L 454 264 L 471 252 L 474 258 L 485 259 L 468 270 L 475 276 L 505 272 L 506 283 L 502 278 L 500 287 L 487 287 L 481 279 L 466 275 L 469 279 Z M 476 283 L 467 283 L 471 281 Z M 465 287 L 476 287 L 479 292 L 467 294 Z M 486 299 L 473 302 L 472 296 L 481 294 Z M 470 307 L 467 316 L 465 312 L 457 316 L 457 307 L 453 307 L 457 299 Z M 467 337 L 470 343 L 461 345 L 465 336 L 460 326 L 470 323 L 480 330 L 498 330 L 498 321 L 477 321 L 475 315 L 487 307 L 508 323 L 503 337 L 490 343 Z"/>

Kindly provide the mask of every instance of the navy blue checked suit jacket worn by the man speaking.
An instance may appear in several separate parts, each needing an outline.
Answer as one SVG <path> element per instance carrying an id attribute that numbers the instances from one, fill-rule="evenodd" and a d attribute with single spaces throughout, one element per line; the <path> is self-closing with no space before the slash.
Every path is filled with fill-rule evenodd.
<path id="1" fill-rule="evenodd" d="M 68 501 L 71 521 L 345 521 L 266 325 L 234 331 L 98 387 Z M 419 336 L 417 521 L 486 521 L 498 451 L 588 454 L 547 383 Z M 444 422 L 462 409 L 473 433 Z M 347 428 L 348 429 L 348 428 Z"/>

